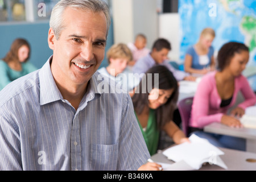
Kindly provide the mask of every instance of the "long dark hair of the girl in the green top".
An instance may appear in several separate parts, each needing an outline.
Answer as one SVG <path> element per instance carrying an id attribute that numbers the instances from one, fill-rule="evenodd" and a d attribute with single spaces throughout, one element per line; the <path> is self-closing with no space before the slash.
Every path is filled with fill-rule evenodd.
<path id="1" fill-rule="evenodd" d="M 149 74 L 151 73 L 151 74 Z M 152 80 L 152 86 L 155 85 L 155 77 L 154 74 L 159 74 L 159 84 L 158 89 L 174 89 L 171 97 L 167 100 L 167 102 L 158 107 L 156 109 L 156 122 L 159 129 L 167 123 L 172 121 L 174 110 L 176 109 L 177 98 L 179 96 L 179 86 L 177 84 L 177 80 L 169 69 L 163 65 L 155 65 L 154 67 L 148 69 L 141 82 L 139 83 L 137 89 L 139 92 L 135 91 L 134 96 L 131 98 L 133 101 L 134 110 L 136 113 L 141 114 L 144 107 L 148 106 L 148 95 L 153 88 L 150 90 L 146 89 L 146 93 L 142 92 L 142 86 L 146 85 L 148 88 L 148 77 Z M 144 84 L 142 82 L 144 81 Z"/>

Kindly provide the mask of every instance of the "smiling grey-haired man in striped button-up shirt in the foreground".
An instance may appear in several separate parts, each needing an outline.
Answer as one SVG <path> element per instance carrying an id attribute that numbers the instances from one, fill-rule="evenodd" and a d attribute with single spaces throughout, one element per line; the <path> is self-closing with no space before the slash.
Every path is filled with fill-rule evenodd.
<path id="1" fill-rule="evenodd" d="M 0 94 L 1 170 L 137 170 L 150 158 L 129 94 L 97 89 L 109 26 L 104 1 L 53 8 L 53 56 Z"/>

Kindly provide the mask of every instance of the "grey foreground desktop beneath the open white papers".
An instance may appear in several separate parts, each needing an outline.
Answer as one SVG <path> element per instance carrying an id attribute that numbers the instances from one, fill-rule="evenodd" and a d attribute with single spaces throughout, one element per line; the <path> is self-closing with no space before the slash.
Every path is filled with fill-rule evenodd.
<path id="1" fill-rule="evenodd" d="M 256 162 L 247 162 L 246 159 L 256 159 L 256 154 L 252 152 L 244 152 L 232 150 L 228 148 L 220 148 L 225 154 L 220 155 L 220 158 L 226 164 L 228 169 L 221 168 L 214 164 L 206 164 L 199 171 L 255 171 Z M 166 156 L 161 153 L 151 156 L 154 162 L 173 164 Z"/>

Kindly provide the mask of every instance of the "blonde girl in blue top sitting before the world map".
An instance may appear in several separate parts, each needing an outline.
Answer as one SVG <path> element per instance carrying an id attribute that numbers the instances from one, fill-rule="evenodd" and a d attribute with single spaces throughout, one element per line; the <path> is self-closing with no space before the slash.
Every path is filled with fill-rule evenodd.
<path id="1" fill-rule="evenodd" d="M 212 47 L 215 32 L 212 28 L 205 28 L 199 41 L 187 49 L 184 61 L 184 70 L 188 73 L 205 75 L 215 69 L 214 49 Z"/>

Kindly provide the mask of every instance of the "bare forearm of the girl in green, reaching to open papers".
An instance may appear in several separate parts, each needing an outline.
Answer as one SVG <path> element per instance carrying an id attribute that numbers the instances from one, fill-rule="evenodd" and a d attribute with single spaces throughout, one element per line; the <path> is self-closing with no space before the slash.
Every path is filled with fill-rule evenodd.
<path id="1" fill-rule="evenodd" d="M 174 140 L 176 144 L 189 142 L 189 139 L 185 136 L 183 131 L 181 131 L 173 121 L 166 123 L 166 125 L 163 127 L 163 130 L 169 137 L 172 138 L 172 140 Z"/>

